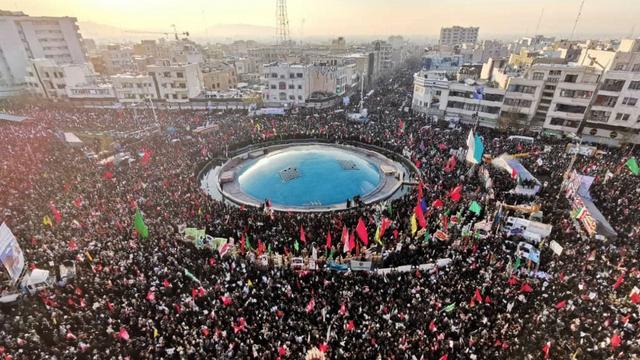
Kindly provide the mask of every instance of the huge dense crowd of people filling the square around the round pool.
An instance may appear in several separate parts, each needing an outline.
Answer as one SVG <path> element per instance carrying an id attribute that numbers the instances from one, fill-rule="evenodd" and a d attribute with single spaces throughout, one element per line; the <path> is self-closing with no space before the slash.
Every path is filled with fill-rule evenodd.
<path id="1" fill-rule="evenodd" d="M 486 154 L 529 154 L 520 161 L 542 189 L 514 194 L 512 174 L 452 164 L 450 151 L 466 148 L 469 128 L 440 127 L 405 111 L 411 86 L 408 69 L 380 81 L 365 102 L 368 123 L 332 110 L 269 117 L 0 105 L 30 118 L 0 124 L 0 222 L 19 239 L 28 269 L 55 272 L 68 260 L 77 267 L 71 281 L 0 307 L 0 359 L 299 359 L 312 348 L 331 359 L 637 358 L 640 299 L 630 293 L 640 275 L 640 178 L 624 162 L 640 152 L 623 146 L 576 158 L 573 168 L 596 178 L 594 202 L 618 233 L 596 239 L 572 218 L 561 188 L 572 161 L 568 140 L 518 143 L 509 132 L 478 128 Z M 207 122 L 217 129 L 192 133 Z M 122 137 L 140 129 L 142 136 Z M 99 163 L 61 141 L 61 131 L 120 134 L 118 149 L 134 160 Z M 313 137 L 404 154 L 419 169 L 413 180 L 421 188 L 406 186 L 384 206 L 268 213 L 212 198 L 196 176 L 230 149 Z M 491 191 L 479 167 L 489 173 Z M 416 236 L 419 197 L 426 224 Z M 470 210 L 473 202 L 481 211 Z M 495 220 L 503 202 L 541 205 L 543 221 L 553 226 L 540 246 L 540 270 L 548 276 L 530 276 L 524 262 L 515 264 L 503 246 L 506 234 L 468 231 Z M 135 230 L 137 210 L 148 237 Z M 379 242 L 366 246 L 356 237 L 357 248 L 345 253 L 343 228 L 354 230 L 361 219 L 371 238 L 381 219 L 390 225 Z M 186 244 L 181 226 L 233 238 L 236 249 L 221 257 Z M 296 249 L 301 227 L 306 241 Z M 438 231 L 447 239 L 436 238 Z M 561 255 L 549 249 L 551 240 L 562 245 Z M 315 248 L 337 261 L 375 253 L 384 267 L 451 262 L 384 275 L 264 269 L 246 256 L 259 244 L 288 257 Z"/>

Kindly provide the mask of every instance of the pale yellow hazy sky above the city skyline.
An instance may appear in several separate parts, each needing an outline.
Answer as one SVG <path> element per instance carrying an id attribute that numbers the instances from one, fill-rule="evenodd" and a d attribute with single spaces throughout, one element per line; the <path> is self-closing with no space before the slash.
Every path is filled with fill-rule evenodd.
<path id="1" fill-rule="evenodd" d="M 480 37 L 530 34 L 544 8 L 540 33 L 571 32 L 581 0 L 289 0 L 292 37 L 423 35 L 441 26 L 480 26 Z M 275 0 L 0 0 L 0 9 L 29 15 L 75 16 L 126 29 L 202 32 L 216 24 L 274 26 Z M 301 27 L 304 21 L 304 27 Z M 576 33 L 628 35 L 640 0 L 586 0 Z"/>

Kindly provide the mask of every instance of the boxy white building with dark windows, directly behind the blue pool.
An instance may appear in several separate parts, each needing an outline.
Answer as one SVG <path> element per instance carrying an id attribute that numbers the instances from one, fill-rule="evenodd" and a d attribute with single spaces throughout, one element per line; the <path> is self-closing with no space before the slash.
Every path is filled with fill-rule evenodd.
<path id="1" fill-rule="evenodd" d="M 313 65 L 271 63 L 262 66 L 265 89 L 262 100 L 281 106 L 304 105 L 311 95 Z"/>

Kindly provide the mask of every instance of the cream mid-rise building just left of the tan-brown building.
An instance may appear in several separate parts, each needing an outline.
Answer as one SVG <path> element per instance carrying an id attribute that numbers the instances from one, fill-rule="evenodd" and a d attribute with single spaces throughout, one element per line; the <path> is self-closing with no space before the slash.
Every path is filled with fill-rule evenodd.
<path id="1" fill-rule="evenodd" d="M 147 72 L 153 78 L 158 97 L 167 102 L 188 102 L 204 91 L 198 64 L 149 65 Z"/>

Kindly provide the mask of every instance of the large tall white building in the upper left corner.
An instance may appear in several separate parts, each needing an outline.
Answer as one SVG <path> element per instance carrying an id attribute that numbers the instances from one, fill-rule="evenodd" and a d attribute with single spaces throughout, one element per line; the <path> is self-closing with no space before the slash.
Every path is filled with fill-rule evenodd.
<path id="1" fill-rule="evenodd" d="M 0 10 L 0 34 L 0 97 L 15 95 L 24 87 L 29 59 L 59 65 L 87 62 L 76 18 Z"/>

